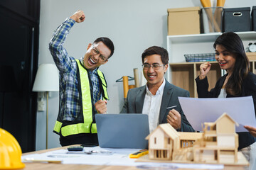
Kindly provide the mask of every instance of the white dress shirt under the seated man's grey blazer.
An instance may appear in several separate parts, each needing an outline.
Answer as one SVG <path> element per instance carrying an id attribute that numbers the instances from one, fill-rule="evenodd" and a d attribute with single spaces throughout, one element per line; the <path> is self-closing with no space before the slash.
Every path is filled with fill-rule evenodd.
<path id="1" fill-rule="evenodd" d="M 149 131 L 152 132 L 159 125 L 159 113 L 161 107 L 161 100 L 164 94 L 165 79 L 159 89 L 156 91 L 156 95 L 151 94 L 148 86 L 146 85 L 146 95 L 144 98 L 144 105 L 142 113 L 149 115 Z"/>

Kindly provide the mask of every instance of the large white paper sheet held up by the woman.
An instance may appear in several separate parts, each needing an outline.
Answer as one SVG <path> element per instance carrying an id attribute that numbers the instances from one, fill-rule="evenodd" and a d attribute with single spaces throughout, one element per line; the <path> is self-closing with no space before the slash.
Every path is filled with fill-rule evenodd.
<path id="1" fill-rule="evenodd" d="M 202 131 L 202 123 L 215 122 L 227 113 L 239 124 L 236 132 L 247 132 L 244 125 L 256 127 L 252 96 L 238 98 L 184 98 L 178 97 L 183 113 L 194 130 Z"/>

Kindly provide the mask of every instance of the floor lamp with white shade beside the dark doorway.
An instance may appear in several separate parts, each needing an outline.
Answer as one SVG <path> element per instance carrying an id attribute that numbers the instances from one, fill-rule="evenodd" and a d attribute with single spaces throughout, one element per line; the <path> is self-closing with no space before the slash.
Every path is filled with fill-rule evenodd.
<path id="1" fill-rule="evenodd" d="M 48 98 L 50 91 L 59 91 L 58 69 L 55 64 L 41 64 L 32 91 L 46 92 L 46 149 L 48 149 Z"/>

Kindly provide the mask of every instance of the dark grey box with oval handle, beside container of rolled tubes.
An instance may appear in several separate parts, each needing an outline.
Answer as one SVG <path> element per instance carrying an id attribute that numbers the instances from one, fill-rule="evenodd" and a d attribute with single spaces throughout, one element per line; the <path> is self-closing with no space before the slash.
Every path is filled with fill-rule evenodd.
<path id="1" fill-rule="evenodd" d="M 224 8 L 223 32 L 240 32 L 250 30 L 250 7 Z"/>

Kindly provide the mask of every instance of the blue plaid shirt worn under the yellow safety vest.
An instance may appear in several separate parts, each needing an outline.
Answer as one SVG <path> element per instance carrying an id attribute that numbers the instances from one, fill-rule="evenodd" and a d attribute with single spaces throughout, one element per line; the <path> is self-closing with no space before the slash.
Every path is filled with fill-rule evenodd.
<path id="1" fill-rule="evenodd" d="M 53 34 L 53 38 L 49 43 L 49 50 L 53 56 L 53 60 L 60 71 L 60 108 L 59 116 L 61 120 L 75 120 L 80 113 L 80 97 L 77 72 L 78 65 L 74 57 L 68 55 L 68 52 L 63 47 L 66 36 L 69 30 L 73 27 L 75 21 L 67 18 Z M 80 62 L 83 65 L 82 58 Z M 100 100 L 100 84 L 97 76 L 97 69 L 93 71 L 87 70 L 90 76 L 90 91 L 92 91 L 92 108 L 94 113 L 97 113 L 94 103 Z M 82 77 L 80 78 L 82 79 Z"/>

